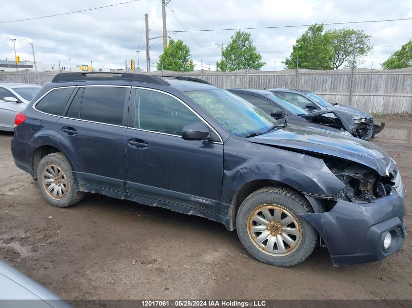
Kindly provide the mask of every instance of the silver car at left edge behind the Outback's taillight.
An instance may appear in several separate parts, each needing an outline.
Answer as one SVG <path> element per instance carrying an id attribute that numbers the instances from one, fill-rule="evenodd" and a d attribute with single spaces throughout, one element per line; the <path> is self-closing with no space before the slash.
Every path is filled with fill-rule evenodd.
<path id="1" fill-rule="evenodd" d="M 14 130 L 16 114 L 26 108 L 41 87 L 0 81 L 0 130 Z"/>

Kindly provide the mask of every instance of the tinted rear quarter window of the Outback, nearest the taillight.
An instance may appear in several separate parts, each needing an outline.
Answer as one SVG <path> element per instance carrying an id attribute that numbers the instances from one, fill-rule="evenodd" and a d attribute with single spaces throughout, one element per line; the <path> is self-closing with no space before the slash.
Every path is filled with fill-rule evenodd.
<path id="1" fill-rule="evenodd" d="M 61 115 L 75 88 L 62 88 L 50 91 L 35 106 L 41 112 Z"/>

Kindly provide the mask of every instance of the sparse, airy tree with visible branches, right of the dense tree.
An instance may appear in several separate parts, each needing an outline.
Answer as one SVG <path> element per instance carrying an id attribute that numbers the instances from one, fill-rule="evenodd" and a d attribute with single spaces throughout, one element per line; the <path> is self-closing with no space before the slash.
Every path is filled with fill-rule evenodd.
<path id="1" fill-rule="evenodd" d="M 371 36 L 363 30 L 333 29 L 325 34 L 332 40 L 331 62 L 335 70 L 342 65 L 357 67 L 365 62 L 364 57 L 373 50 L 373 46 L 369 45 Z"/>

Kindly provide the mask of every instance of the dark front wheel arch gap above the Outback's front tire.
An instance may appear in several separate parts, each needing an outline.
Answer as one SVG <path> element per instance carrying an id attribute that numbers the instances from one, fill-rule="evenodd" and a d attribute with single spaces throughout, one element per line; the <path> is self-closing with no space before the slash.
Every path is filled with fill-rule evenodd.
<path id="1" fill-rule="evenodd" d="M 285 183 L 273 181 L 273 180 L 256 180 L 251 181 L 243 185 L 235 194 L 235 197 L 232 200 L 232 219 L 230 221 L 230 230 L 235 230 L 236 228 L 236 215 L 237 211 L 239 210 L 240 205 L 242 202 L 255 190 L 258 190 L 263 187 L 267 186 L 283 186 L 293 189 L 295 192 L 301 194 L 299 191 L 294 189 L 292 186 L 289 186 Z M 306 198 L 305 198 L 306 199 Z M 309 203 L 309 202 L 308 202 Z M 312 204 L 311 204 L 312 206 Z"/>

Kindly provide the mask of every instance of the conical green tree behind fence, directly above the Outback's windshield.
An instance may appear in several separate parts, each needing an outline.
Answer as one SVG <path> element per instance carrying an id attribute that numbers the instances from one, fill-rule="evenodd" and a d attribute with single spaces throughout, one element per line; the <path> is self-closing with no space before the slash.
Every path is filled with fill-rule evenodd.
<path id="1" fill-rule="evenodd" d="M 255 69 L 259 70 L 266 63 L 261 62 L 262 55 L 253 45 L 251 34 L 243 31 L 236 31 L 232 36 L 232 41 L 222 52 L 222 61 L 216 62 L 216 67 L 221 72 L 235 70 Z"/>

